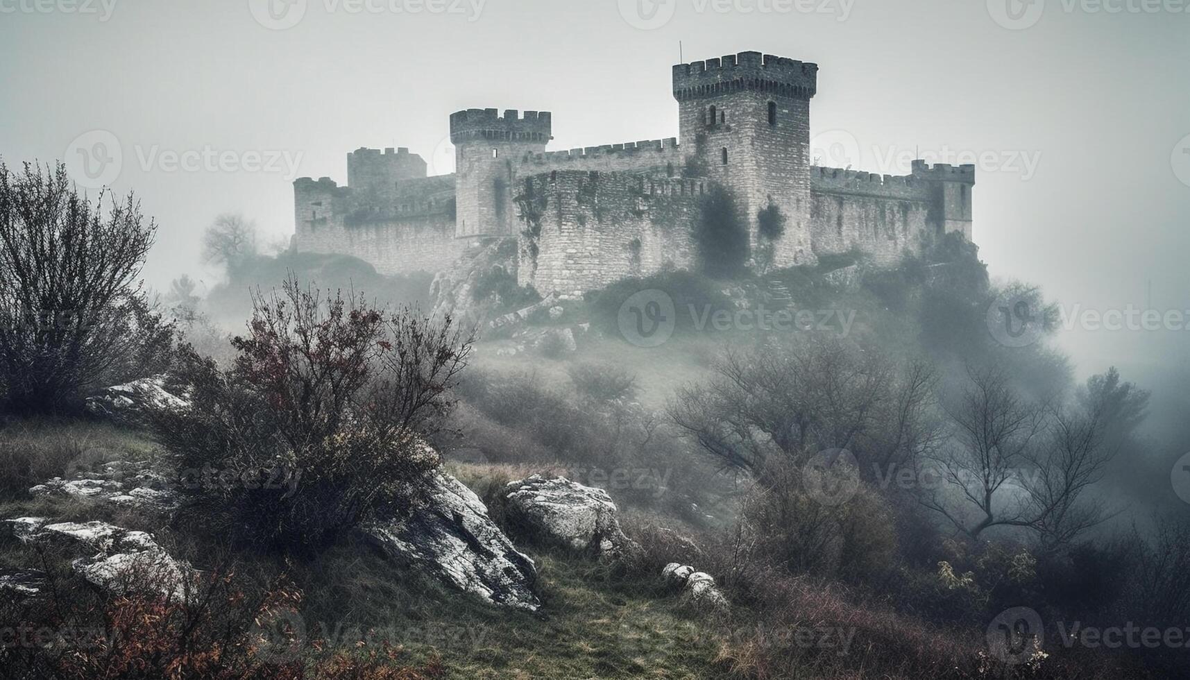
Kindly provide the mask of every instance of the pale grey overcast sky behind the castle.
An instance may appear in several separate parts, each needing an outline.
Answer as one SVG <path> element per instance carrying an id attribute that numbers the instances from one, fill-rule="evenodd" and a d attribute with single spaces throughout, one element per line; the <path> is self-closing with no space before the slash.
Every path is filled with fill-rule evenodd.
<path id="1" fill-rule="evenodd" d="M 977 162 L 994 276 L 1071 311 L 1190 310 L 1184 0 L 274 1 L 0 0 L 0 154 L 89 160 L 134 189 L 164 287 L 209 279 L 221 212 L 288 237 L 294 176 L 345 182 L 349 150 L 451 171 L 447 117 L 468 107 L 552 111 L 556 149 L 674 137 L 679 40 L 685 61 L 758 50 L 820 65 L 823 164 Z M 1190 366 L 1190 331 L 1060 342 L 1082 374 Z"/>

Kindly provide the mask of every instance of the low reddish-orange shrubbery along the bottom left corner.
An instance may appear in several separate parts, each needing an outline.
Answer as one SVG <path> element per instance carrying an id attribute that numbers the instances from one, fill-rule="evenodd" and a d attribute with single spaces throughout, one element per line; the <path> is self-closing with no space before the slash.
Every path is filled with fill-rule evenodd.
<path id="1" fill-rule="evenodd" d="M 180 599 L 152 593 L 102 598 L 55 579 L 56 595 L 0 606 L 14 635 L 0 649 L 5 678 L 35 680 L 424 680 L 397 649 L 367 654 L 308 640 L 303 595 L 283 575 L 264 584 L 227 569 L 199 576 Z M 69 595 L 69 597 L 67 597 Z M 296 622 L 296 624 L 295 624 Z M 48 644 L 46 641 L 50 641 Z"/>

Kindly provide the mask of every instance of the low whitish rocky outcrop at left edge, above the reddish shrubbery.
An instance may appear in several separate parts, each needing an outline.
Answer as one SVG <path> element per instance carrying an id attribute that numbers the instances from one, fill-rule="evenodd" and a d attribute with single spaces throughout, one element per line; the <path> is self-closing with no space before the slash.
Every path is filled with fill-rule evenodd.
<path id="1" fill-rule="evenodd" d="M 171 557 L 144 531 L 129 531 L 106 522 L 51 523 L 20 517 L 5 523 L 23 543 L 54 547 L 71 555 L 76 574 L 100 589 L 124 594 L 150 588 L 181 600 L 194 569 Z"/>

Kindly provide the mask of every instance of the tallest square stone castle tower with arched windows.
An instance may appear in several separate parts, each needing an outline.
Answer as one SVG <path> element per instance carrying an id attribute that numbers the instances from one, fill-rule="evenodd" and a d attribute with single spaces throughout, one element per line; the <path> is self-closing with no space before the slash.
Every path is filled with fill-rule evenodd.
<path id="1" fill-rule="evenodd" d="M 735 194 L 753 256 L 765 245 L 776 267 L 815 261 L 809 137 L 816 91 L 818 64 L 760 52 L 674 67 L 682 148 Z M 770 205 L 784 217 L 784 233 L 768 244 L 758 216 Z"/>

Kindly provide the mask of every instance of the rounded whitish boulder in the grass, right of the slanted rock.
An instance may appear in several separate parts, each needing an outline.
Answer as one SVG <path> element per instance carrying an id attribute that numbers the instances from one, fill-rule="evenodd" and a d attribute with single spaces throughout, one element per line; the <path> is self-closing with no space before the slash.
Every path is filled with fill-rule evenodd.
<path id="1" fill-rule="evenodd" d="M 508 519 L 532 538 L 619 559 L 634 548 L 620 529 L 615 503 L 601 488 L 533 475 L 505 487 Z"/>

